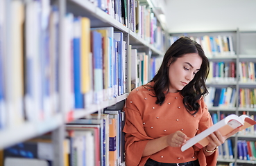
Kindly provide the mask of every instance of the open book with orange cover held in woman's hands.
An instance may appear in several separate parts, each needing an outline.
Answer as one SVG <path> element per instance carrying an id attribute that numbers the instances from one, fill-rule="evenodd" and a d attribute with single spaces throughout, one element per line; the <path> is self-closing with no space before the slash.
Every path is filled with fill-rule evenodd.
<path id="1" fill-rule="evenodd" d="M 181 147 L 181 151 L 185 151 L 189 149 L 189 147 L 192 147 L 193 145 L 196 145 L 196 147 L 202 148 L 209 144 L 209 141 L 207 140 L 207 136 L 209 136 L 214 131 L 219 130 L 222 134 L 222 136 L 226 136 L 228 133 L 232 132 L 234 129 L 240 128 L 240 131 L 243 129 L 246 129 L 247 127 L 253 126 L 256 124 L 256 121 L 250 118 L 246 115 L 237 116 L 234 114 L 231 114 L 227 117 L 225 117 L 223 120 L 220 120 L 216 124 L 214 124 L 212 127 L 209 127 L 205 131 L 202 131 L 201 133 L 198 133 L 198 135 L 194 136 L 193 138 L 190 138 L 187 140 L 185 145 Z"/>

